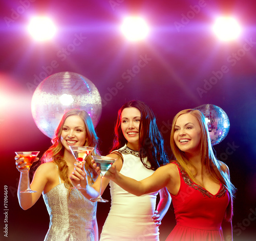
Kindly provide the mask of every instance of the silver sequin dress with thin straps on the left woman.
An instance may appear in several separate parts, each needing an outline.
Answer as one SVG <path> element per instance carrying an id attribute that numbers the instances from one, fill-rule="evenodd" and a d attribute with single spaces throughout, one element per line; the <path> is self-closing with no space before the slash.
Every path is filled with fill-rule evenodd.
<path id="1" fill-rule="evenodd" d="M 91 202 L 77 189 L 68 197 L 64 183 L 43 194 L 50 215 L 45 241 L 94 241 L 97 202 Z"/>

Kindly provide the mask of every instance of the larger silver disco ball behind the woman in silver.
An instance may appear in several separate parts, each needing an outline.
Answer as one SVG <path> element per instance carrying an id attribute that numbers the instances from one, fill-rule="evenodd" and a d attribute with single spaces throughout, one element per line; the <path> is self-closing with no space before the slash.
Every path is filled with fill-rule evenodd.
<path id="1" fill-rule="evenodd" d="M 39 130 L 52 138 L 63 114 L 71 109 L 85 110 L 94 127 L 101 115 L 101 98 L 95 85 L 86 77 L 60 72 L 43 80 L 31 102 L 32 116 Z"/>

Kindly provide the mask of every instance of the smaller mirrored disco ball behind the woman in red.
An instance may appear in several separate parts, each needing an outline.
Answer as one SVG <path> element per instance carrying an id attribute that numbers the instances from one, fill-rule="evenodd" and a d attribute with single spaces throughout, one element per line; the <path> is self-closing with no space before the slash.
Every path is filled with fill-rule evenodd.
<path id="1" fill-rule="evenodd" d="M 207 122 L 211 144 L 220 143 L 229 131 L 229 119 L 226 112 L 216 105 L 206 104 L 196 107 L 200 110 Z"/>

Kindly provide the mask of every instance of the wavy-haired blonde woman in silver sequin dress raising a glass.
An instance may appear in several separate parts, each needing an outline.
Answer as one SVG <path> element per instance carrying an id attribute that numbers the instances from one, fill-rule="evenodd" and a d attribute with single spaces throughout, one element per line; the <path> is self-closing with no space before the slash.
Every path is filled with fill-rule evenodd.
<path id="1" fill-rule="evenodd" d="M 28 174 L 24 158 L 15 156 L 20 172 L 17 191 L 20 207 L 24 210 L 32 207 L 41 194 L 47 206 L 50 225 L 45 240 L 98 240 L 97 203 L 89 201 L 78 189 L 70 189 L 73 184 L 69 178 L 75 162 L 69 146 L 94 147 L 92 154 L 98 155 L 97 143 L 98 137 L 86 111 L 65 113 L 55 131 L 52 146 L 42 156 L 42 164 L 34 174 L 31 188 L 36 192 L 33 194 L 20 193 L 27 187 Z M 89 185 L 92 185 L 97 173 L 92 167 L 91 156 L 88 160 L 85 168 Z M 95 191 L 95 197 L 97 194 Z"/>

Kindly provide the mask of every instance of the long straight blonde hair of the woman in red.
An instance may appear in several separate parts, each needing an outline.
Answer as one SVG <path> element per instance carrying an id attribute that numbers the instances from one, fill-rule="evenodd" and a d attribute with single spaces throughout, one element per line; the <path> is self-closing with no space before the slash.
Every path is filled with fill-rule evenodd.
<path id="1" fill-rule="evenodd" d="M 227 221 L 232 220 L 233 216 L 233 198 L 234 198 L 234 193 L 236 192 L 236 188 L 234 185 L 230 182 L 229 175 L 227 173 L 227 170 L 224 169 L 224 167 L 221 165 L 221 162 L 216 158 L 214 154 L 214 150 L 211 145 L 211 140 L 210 140 L 210 135 L 208 132 L 208 127 L 205 122 L 204 115 L 202 114 L 201 111 L 199 110 L 194 110 L 194 109 L 186 109 L 180 111 L 177 115 L 175 115 L 173 119 L 173 125 L 172 125 L 172 131 L 170 133 L 170 147 L 172 148 L 173 154 L 176 157 L 176 160 L 180 163 L 180 165 L 184 168 L 186 173 L 188 174 L 189 178 L 196 182 L 194 175 L 191 173 L 189 166 L 193 166 L 188 159 L 185 156 L 185 153 L 182 152 L 176 145 L 175 140 L 174 140 L 174 132 L 175 132 L 175 125 L 177 122 L 177 119 L 179 116 L 182 114 L 191 114 L 195 116 L 200 124 L 201 128 L 201 153 L 202 153 L 202 158 L 201 162 L 202 164 L 206 165 L 206 172 L 214 178 L 216 181 L 220 181 L 228 190 L 230 194 L 230 201 L 229 205 L 226 209 L 225 213 L 225 219 Z"/>

